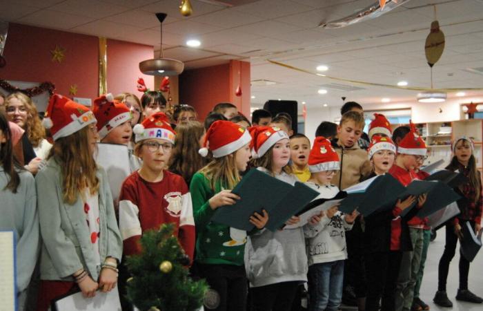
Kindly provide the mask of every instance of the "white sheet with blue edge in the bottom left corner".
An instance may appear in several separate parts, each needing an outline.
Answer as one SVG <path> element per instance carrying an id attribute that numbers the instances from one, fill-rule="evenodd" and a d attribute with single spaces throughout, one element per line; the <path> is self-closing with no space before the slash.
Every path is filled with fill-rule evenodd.
<path id="1" fill-rule="evenodd" d="M 12 231 L 0 232 L 0 310 L 15 311 L 15 242 Z"/>

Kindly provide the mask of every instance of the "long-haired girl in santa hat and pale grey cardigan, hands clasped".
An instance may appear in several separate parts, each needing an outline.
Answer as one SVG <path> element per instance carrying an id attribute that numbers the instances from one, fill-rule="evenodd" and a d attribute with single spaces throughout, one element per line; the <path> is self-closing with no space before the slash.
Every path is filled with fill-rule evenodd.
<path id="1" fill-rule="evenodd" d="M 37 310 L 80 289 L 83 296 L 110 292 L 117 283 L 122 241 L 106 172 L 97 167 L 96 119 L 86 106 L 53 95 L 44 126 L 54 145 L 37 173 L 43 240 Z"/>

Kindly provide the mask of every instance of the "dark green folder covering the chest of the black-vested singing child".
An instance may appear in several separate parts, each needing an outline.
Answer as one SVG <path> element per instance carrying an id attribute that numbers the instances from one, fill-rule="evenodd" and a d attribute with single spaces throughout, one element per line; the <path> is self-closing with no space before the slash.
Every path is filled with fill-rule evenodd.
<path id="1" fill-rule="evenodd" d="M 377 176 L 364 193 L 348 194 L 341 202 L 340 211 L 351 213 L 357 208 L 364 216 L 371 215 L 374 211 L 392 208 L 406 189 L 390 174 Z"/>

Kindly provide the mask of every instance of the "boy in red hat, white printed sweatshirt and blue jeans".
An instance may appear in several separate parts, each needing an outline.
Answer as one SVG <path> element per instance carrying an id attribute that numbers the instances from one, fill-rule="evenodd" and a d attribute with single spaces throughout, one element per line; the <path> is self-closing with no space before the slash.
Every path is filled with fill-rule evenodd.
<path id="1" fill-rule="evenodd" d="M 315 138 L 308 156 L 312 173 L 305 185 L 319 191 L 322 198 L 333 198 L 339 188 L 331 185 L 339 170 L 339 156 L 324 137 Z M 304 226 L 308 257 L 308 310 L 339 310 L 347 259 L 345 232 L 351 230 L 357 211 L 344 215 L 337 205 L 314 215 Z"/>

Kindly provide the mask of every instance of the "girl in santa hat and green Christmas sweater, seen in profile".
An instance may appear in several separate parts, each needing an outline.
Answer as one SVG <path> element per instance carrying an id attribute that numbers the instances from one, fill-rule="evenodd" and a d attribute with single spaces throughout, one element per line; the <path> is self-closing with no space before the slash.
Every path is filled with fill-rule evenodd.
<path id="1" fill-rule="evenodd" d="M 250 160 L 248 130 L 229 121 L 215 121 L 208 129 L 201 156 L 213 153 L 213 160 L 193 176 L 190 192 L 197 231 L 195 263 L 199 276 L 210 285 L 206 308 L 210 310 L 246 310 L 246 272 L 244 252 L 246 232 L 213 223 L 215 210 L 233 205 L 239 196 L 231 189 L 242 179 Z M 268 221 L 263 211 L 250 217 L 250 223 L 262 229 Z"/>

